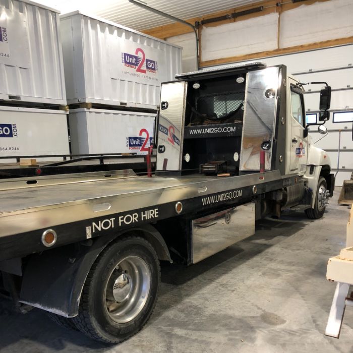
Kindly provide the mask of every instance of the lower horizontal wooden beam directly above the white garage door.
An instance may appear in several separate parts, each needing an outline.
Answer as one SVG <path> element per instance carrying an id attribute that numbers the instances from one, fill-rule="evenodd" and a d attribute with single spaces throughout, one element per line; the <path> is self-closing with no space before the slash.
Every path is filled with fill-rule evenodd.
<path id="1" fill-rule="evenodd" d="M 331 46 L 338 46 L 338 45 L 342 45 L 342 44 L 352 44 L 352 43 L 353 43 L 353 36 L 346 37 L 346 38 L 339 38 L 339 39 L 331 39 L 331 40 L 325 40 L 322 42 L 296 45 L 296 46 L 291 46 L 291 47 L 287 47 L 287 48 L 262 51 L 262 52 L 251 53 L 251 54 L 246 54 L 246 55 L 222 57 L 222 58 L 215 59 L 215 60 L 201 62 L 200 67 L 229 64 L 229 63 L 241 62 L 241 61 L 252 60 L 252 59 L 261 59 L 262 57 L 267 57 L 267 56 L 290 54 L 290 53 L 295 53 L 295 52 L 301 52 L 301 51 L 307 51 L 307 50 L 313 50 L 313 49 L 321 49 L 321 48 L 326 48 L 326 47 L 331 47 Z"/>

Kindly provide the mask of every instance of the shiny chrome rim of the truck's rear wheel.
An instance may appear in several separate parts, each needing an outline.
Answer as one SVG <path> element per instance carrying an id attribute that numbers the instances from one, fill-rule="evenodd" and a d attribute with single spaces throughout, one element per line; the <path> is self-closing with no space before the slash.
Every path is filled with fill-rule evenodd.
<path id="1" fill-rule="evenodd" d="M 116 323 L 127 323 L 144 308 L 151 288 L 151 271 L 142 258 L 128 256 L 112 270 L 105 286 L 105 309 Z"/>

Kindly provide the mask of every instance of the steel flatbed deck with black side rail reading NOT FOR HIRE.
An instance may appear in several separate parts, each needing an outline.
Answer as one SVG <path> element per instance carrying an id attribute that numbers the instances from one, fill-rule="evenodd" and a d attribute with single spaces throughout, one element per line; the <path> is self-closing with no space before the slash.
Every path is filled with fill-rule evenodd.
<path id="1" fill-rule="evenodd" d="M 277 190 L 282 183 L 278 170 L 235 177 L 152 178 L 121 170 L 3 180 L 0 260 L 46 250 L 41 243 L 46 229 L 57 233 L 57 247 L 201 208 L 234 205 L 256 193 Z M 180 214 L 175 211 L 177 202 L 183 204 Z"/>

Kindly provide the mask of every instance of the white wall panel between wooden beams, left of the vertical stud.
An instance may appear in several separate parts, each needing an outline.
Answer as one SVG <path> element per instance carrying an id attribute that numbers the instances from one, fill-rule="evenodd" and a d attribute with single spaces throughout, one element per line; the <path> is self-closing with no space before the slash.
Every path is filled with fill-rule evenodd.
<path id="1" fill-rule="evenodd" d="M 277 48 L 278 14 L 202 29 L 202 61 Z M 261 30 L 260 30 L 261 29 Z"/>

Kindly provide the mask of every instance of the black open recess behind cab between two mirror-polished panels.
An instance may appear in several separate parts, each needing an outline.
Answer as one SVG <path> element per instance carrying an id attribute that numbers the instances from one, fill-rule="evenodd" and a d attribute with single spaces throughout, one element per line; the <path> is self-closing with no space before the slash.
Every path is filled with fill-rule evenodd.
<path id="1" fill-rule="evenodd" d="M 239 74 L 188 83 L 183 173 L 239 174 L 245 78 Z"/>

